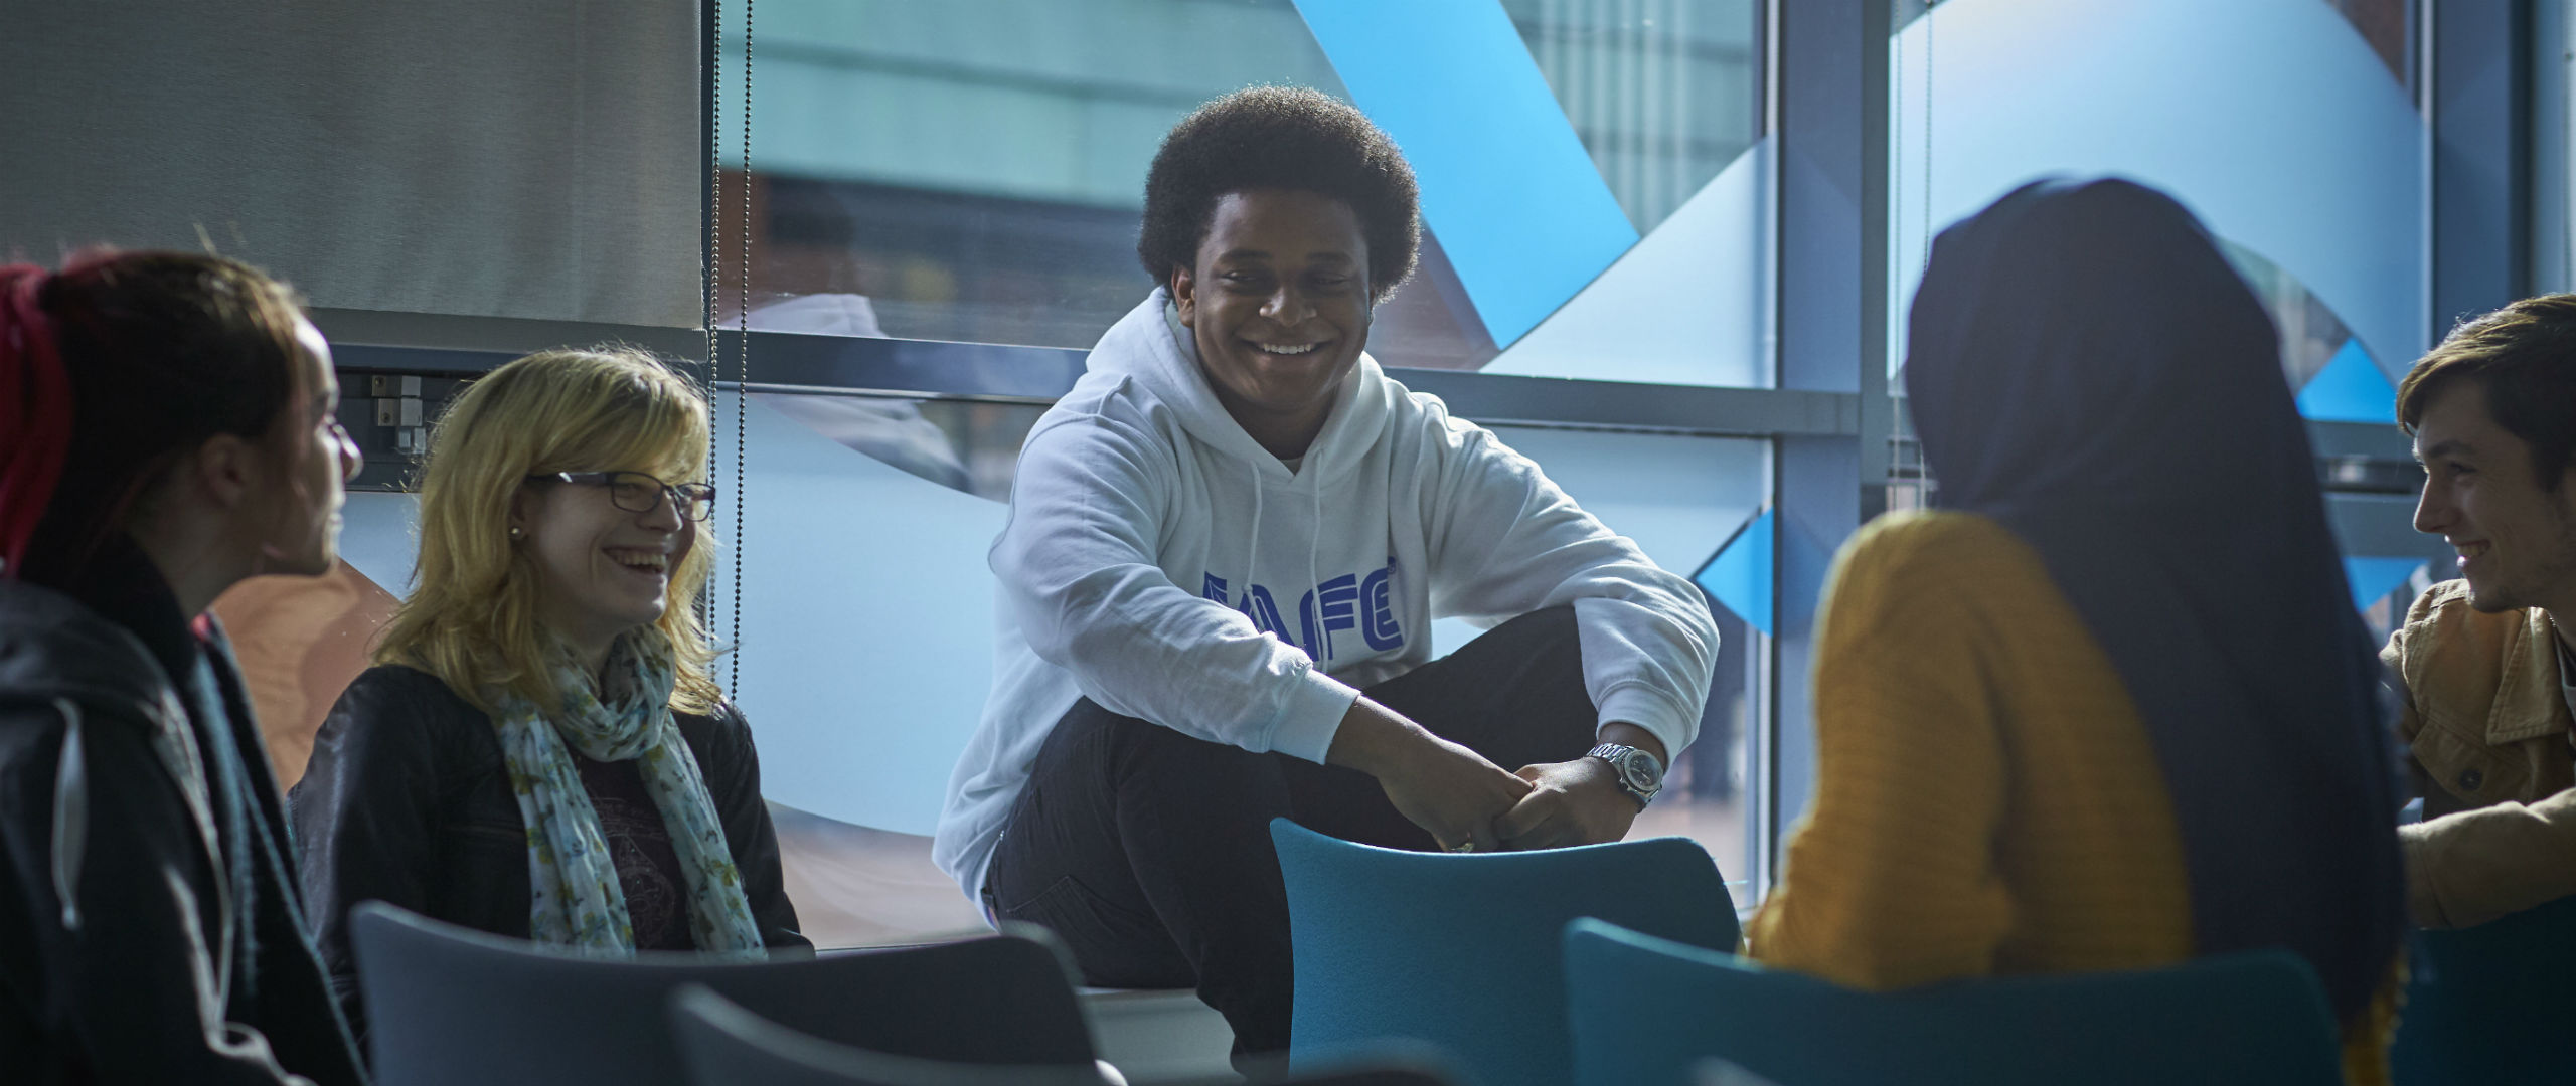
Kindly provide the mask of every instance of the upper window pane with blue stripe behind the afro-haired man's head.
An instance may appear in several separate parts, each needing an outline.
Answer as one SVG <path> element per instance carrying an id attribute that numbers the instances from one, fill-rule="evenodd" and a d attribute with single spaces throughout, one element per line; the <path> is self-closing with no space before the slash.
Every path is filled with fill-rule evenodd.
<path id="1" fill-rule="evenodd" d="M 739 108 L 719 108 L 721 185 L 752 198 L 750 324 L 1090 347 L 1157 281 L 1133 250 L 1162 134 L 1273 82 L 1358 103 L 1422 180 L 1422 268 L 1378 311 L 1381 363 L 1767 386 L 1757 15 L 773 0 L 747 175 Z M 739 36 L 721 62 L 739 95 Z M 739 283 L 721 299 L 737 319 Z"/>

